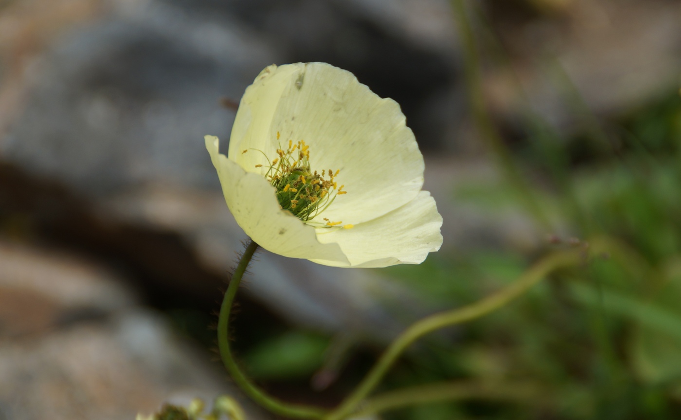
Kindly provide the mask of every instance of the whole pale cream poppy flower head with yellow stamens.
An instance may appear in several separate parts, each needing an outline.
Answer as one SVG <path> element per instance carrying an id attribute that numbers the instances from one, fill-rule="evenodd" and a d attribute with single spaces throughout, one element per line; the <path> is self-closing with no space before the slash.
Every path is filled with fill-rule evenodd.
<path id="1" fill-rule="evenodd" d="M 236 222 L 268 251 L 383 267 L 419 264 L 442 245 L 405 116 L 349 71 L 267 67 L 241 99 L 229 157 L 217 137 L 206 148 Z"/>

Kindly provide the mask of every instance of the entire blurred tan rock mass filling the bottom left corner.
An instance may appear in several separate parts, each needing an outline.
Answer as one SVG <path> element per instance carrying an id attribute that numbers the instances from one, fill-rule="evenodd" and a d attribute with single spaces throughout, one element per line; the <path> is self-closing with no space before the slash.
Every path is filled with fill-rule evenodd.
<path id="1" fill-rule="evenodd" d="M 63 252 L 0 242 L 0 419 L 133 419 L 169 399 L 238 395 L 124 283 Z"/>

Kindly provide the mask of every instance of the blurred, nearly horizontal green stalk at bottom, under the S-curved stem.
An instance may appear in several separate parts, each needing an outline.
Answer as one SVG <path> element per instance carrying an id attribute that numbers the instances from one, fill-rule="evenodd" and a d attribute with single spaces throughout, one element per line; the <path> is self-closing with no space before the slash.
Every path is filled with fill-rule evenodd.
<path id="1" fill-rule="evenodd" d="M 550 394 L 532 383 L 481 383 L 480 381 L 432 383 L 398 389 L 370 398 L 362 404 L 362 409 L 356 416 L 363 418 L 417 404 L 470 398 L 545 402 L 550 398 Z"/>

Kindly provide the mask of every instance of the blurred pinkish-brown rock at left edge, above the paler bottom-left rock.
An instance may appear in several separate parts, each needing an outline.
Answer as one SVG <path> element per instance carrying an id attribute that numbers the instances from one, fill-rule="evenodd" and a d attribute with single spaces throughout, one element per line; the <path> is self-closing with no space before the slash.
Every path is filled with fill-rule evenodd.
<path id="1" fill-rule="evenodd" d="M 121 279 L 72 256 L 0 242 L 0 339 L 131 307 Z"/>

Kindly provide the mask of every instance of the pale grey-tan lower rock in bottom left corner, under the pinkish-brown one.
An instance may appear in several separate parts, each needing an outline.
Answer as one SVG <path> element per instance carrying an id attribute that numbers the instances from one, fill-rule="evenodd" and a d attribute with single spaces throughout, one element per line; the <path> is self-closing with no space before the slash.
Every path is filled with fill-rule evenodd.
<path id="1" fill-rule="evenodd" d="M 168 400 L 236 394 L 204 361 L 165 322 L 140 311 L 0 342 L 0 413 L 13 420 L 129 420 Z M 244 408 L 249 419 L 266 418 Z"/>

